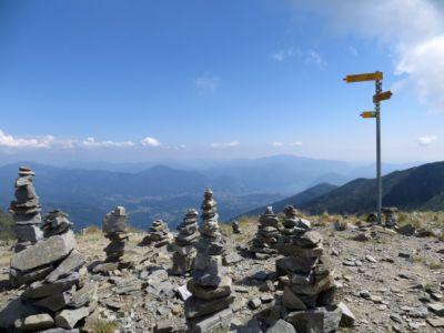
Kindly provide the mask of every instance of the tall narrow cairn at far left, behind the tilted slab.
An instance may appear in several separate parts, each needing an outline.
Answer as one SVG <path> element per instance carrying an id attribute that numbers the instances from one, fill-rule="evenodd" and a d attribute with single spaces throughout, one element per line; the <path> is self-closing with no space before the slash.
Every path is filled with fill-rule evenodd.
<path id="1" fill-rule="evenodd" d="M 18 242 L 14 252 L 20 252 L 43 238 L 40 230 L 39 196 L 32 183 L 34 175 L 31 169 L 20 167 L 19 176 L 16 180 L 16 200 L 11 202 L 9 209 L 16 222 L 14 233 Z"/>

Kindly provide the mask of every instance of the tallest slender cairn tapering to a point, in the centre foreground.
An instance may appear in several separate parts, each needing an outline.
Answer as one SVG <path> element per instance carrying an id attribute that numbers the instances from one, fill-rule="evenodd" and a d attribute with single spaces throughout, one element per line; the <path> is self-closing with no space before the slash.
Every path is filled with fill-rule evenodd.
<path id="1" fill-rule="evenodd" d="M 192 296 L 185 301 L 185 317 L 190 332 L 228 332 L 234 301 L 232 281 L 224 275 L 222 266 L 224 243 L 219 229 L 219 215 L 213 192 L 208 189 L 202 203 L 202 220 L 199 231 L 201 239 L 196 243 L 192 279 L 188 290 Z"/>

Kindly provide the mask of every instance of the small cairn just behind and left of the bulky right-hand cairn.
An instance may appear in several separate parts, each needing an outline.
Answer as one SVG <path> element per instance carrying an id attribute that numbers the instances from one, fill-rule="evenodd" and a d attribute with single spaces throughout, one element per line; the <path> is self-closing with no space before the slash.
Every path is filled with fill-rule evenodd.
<path id="1" fill-rule="evenodd" d="M 258 232 L 253 239 L 250 251 L 256 259 L 269 259 L 278 254 L 276 244 L 282 229 L 279 218 L 273 213 L 273 208 L 268 206 L 265 212 L 259 218 Z"/>

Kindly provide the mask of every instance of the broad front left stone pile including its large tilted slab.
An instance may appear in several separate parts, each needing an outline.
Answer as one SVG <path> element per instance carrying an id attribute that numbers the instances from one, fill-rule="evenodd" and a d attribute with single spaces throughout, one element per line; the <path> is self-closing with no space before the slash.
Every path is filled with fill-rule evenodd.
<path id="1" fill-rule="evenodd" d="M 20 299 L 0 313 L 8 319 L 0 331 L 59 327 L 57 332 L 64 332 L 77 327 L 95 309 L 97 284 L 87 282 L 84 259 L 75 250 L 71 225 L 63 212 L 49 213 L 43 225 L 48 236 L 12 255 L 11 282 L 26 287 Z"/>

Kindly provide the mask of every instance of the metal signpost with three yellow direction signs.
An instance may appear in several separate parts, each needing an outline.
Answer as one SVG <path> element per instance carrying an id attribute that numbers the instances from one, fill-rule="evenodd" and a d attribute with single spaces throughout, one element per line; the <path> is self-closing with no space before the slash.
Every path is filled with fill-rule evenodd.
<path id="1" fill-rule="evenodd" d="M 389 100 L 392 97 L 392 92 L 382 91 L 382 72 L 364 73 L 346 75 L 344 81 L 346 83 L 375 81 L 375 94 L 373 95 L 373 103 L 375 111 L 364 111 L 361 113 L 362 118 L 375 118 L 376 119 L 376 209 L 377 209 L 377 223 L 382 224 L 382 176 L 381 176 L 381 101 Z"/>

